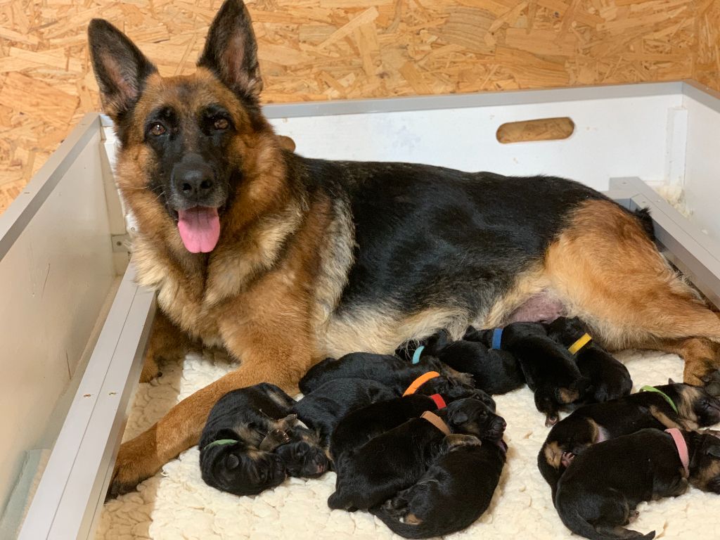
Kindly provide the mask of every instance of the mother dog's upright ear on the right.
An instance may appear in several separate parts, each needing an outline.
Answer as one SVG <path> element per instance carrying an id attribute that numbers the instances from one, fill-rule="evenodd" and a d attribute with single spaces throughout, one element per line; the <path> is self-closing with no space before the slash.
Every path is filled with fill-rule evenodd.
<path id="1" fill-rule="evenodd" d="M 207 33 L 197 65 L 213 71 L 235 94 L 257 99 L 263 89 L 258 44 L 241 0 L 225 0 Z"/>

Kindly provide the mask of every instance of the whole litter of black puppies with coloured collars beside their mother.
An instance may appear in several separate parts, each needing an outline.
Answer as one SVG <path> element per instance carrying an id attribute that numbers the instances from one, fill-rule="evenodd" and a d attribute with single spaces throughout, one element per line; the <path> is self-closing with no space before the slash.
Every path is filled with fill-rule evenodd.
<path id="1" fill-rule="evenodd" d="M 720 400 L 672 381 L 630 394 L 625 366 L 567 318 L 325 359 L 302 378 L 298 401 L 272 384 L 229 392 L 203 431 L 202 477 L 256 495 L 333 470 L 330 508 L 368 511 L 406 538 L 450 534 L 486 513 L 513 459 L 491 395 L 526 383 L 553 426 L 538 469 L 576 534 L 652 538 L 624 528 L 639 502 L 688 485 L 720 492 L 719 433 L 694 431 L 720 421 Z M 570 415 L 559 420 L 560 410 Z M 625 471 L 638 460 L 651 464 L 642 478 Z"/>

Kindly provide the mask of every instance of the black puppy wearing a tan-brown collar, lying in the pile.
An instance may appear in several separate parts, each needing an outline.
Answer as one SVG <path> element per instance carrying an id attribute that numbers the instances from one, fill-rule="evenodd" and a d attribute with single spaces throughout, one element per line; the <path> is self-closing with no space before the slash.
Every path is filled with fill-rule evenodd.
<path id="1" fill-rule="evenodd" d="M 435 416 L 423 413 L 428 414 Z M 449 403 L 436 418 L 444 421 L 444 431 L 426 418 L 413 418 L 343 454 L 328 506 L 365 510 L 378 505 L 417 482 L 438 454 L 472 440 L 458 434 L 499 440 L 505 428 L 502 418 L 488 416 L 485 405 L 472 398 Z M 446 438 L 449 433 L 456 436 Z"/>

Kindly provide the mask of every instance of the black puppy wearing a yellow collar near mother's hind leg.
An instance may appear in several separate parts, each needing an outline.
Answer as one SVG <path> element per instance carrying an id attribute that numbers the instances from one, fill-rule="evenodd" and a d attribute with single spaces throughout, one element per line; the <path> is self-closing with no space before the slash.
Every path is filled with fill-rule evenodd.
<path id="1" fill-rule="evenodd" d="M 547 334 L 575 356 L 577 368 L 590 379 L 588 402 L 603 402 L 628 395 L 632 390 L 630 372 L 608 351 L 590 338 L 580 319 L 560 317 L 546 325 Z M 575 350 L 577 349 L 577 350 Z"/>

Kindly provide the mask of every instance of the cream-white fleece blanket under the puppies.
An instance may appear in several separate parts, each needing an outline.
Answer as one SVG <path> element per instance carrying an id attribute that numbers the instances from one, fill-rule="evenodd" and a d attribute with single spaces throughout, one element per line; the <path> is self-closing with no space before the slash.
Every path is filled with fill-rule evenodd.
<path id="1" fill-rule="evenodd" d="M 633 391 L 644 384 L 665 384 L 682 379 L 678 356 L 649 351 L 619 354 L 634 381 Z M 175 402 L 233 369 L 219 357 L 192 356 L 161 366 L 163 376 L 140 384 L 125 439 L 150 426 Z M 548 428 L 533 405 L 527 387 L 496 397 L 498 414 L 508 422 L 505 441 L 508 462 L 490 508 L 477 523 L 452 539 L 569 539 L 577 538 L 562 525 L 550 490 L 542 479 L 536 457 Z M 209 487 L 199 472 L 197 446 L 166 464 L 145 480 L 138 492 L 105 505 L 98 539 L 390 539 L 400 538 L 369 513 L 347 513 L 328 508 L 335 474 L 319 480 L 290 479 L 255 497 L 235 497 Z M 611 467 L 612 464 L 608 464 Z M 690 490 L 675 499 L 639 505 L 639 519 L 631 528 L 657 531 L 664 539 L 717 537 L 720 531 L 720 496 Z"/>

